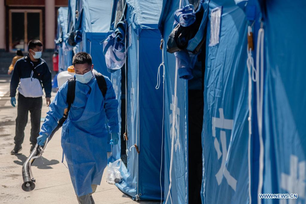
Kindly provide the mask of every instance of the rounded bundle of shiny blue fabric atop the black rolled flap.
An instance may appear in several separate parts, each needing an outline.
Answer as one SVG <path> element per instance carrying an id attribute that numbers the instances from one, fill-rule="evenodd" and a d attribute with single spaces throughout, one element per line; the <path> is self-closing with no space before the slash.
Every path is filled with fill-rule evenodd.
<path id="1" fill-rule="evenodd" d="M 174 13 L 174 19 L 183 27 L 193 24 L 196 21 L 196 12 L 194 11 L 193 5 L 188 4 L 182 9 L 178 9 Z"/>

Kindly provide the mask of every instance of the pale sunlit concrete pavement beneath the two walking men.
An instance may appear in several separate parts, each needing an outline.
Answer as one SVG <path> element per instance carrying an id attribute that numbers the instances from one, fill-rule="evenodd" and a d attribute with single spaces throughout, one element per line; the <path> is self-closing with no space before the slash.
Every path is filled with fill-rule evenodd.
<path id="1" fill-rule="evenodd" d="M 33 163 L 35 189 L 31 192 L 21 189 L 23 183 L 21 168 L 30 153 L 31 124 L 29 118 L 21 154 L 10 155 L 14 147 L 17 108 L 10 104 L 8 89 L 8 78 L 0 78 L 0 203 L 77 203 L 68 169 L 61 163 L 61 131 L 53 136 L 43 153 L 43 158 L 38 158 Z M 52 93 L 53 97 L 54 95 Z M 42 121 L 47 111 L 46 102 L 43 100 Z M 106 170 L 101 185 L 92 196 L 97 204 L 137 203 L 118 190 L 115 185 L 106 183 Z M 160 202 L 141 203 L 158 204 Z"/>

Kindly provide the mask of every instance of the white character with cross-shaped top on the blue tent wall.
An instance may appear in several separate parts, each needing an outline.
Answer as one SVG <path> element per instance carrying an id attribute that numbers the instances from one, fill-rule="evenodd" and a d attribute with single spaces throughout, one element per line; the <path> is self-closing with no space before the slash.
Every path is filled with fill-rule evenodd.
<path id="1" fill-rule="evenodd" d="M 220 150 L 220 144 L 218 142 L 218 139 L 216 138 L 216 128 L 222 128 L 222 129 L 227 129 L 227 130 L 232 130 L 233 129 L 233 120 L 225 119 L 224 114 L 223 114 L 223 109 L 219 108 L 219 115 L 220 117 L 212 117 L 212 136 L 215 137 L 214 140 L 214 146 L 217 151 L 218 159 L 222 156 L 222 161 L 221 161 L 221 167 L 219 171 L 217 172 L 216 179 L 218 182 L 218 185 L 221 184 L 221 181 L 223 179 L 223 175 L 227 181 L 227 183 L 230 185 L 230 187 L 233 188 L 234 191 L 236 191 L 236 186 L 237 186 L 237 180 L 230 175 L 230 172 L 227 170 L 225 166 L 226 162 L 226 156 L 227 156 L 227 147 L 226 147 L 226 132 L 225 131 L 220 131 L 220 139 L 221 139 L 221 147 L 222 147 L 222 152 Z"/>

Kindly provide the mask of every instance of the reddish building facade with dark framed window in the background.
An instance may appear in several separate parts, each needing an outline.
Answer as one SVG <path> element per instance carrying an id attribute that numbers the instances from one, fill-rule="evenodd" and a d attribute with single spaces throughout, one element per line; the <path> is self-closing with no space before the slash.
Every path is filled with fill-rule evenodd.
<path id="1" fill-rule="evenodd" d="M 28 51 L 28 41 L 39 39 L 44 50 L 54 49 L 57 10 L 68 0 L 0 0 L 0 49 Z"/>

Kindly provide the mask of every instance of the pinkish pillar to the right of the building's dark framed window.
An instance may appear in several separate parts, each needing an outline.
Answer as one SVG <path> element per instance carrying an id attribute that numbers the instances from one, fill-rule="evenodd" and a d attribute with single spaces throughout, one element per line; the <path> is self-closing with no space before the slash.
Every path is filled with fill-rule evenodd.
<path id="1" fill-rule="evenodd" d="M 54 49 L 55 38 L 55 0 L 45 0 L 45 48 Z"/>

